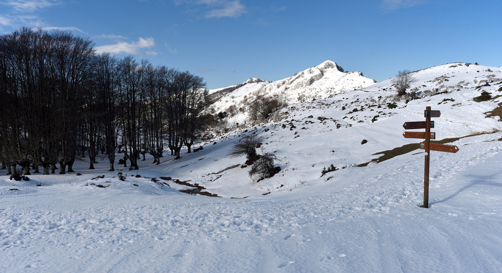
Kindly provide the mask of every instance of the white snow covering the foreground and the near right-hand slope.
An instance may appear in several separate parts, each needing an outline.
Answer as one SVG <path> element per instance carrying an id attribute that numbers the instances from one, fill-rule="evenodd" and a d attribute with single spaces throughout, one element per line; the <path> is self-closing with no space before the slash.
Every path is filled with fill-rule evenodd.
<path id="1" fill-rule="evenodd" d="M 290 105 L 278 122 L 221 135 L 177 161 L 147 158 L 138 171 L 107 172 L 103 158 L 97 170 L 77 163 L 81 176 L 3 176 L 0 271 L 502 272 L 502 124 L 485 117 L 500 98 L 472 100 L 499 95 L 502 71 L 456 63 L 415 76 L 422 95 L 408 103 L 387 80 Z M 355 167 L 419 143 L 402 125 L 425 120 L 426 106 L 441 111 L 437 140 L 460 138 L 448 143 L 455 154 L 431 152 L 428 209 L 423 151 Z M 249 133 L 266 138 L 279 174 L 256 183 L 244 158 L 226 156 Z M 330 164 L 340 170 L 321 176 Z"/>

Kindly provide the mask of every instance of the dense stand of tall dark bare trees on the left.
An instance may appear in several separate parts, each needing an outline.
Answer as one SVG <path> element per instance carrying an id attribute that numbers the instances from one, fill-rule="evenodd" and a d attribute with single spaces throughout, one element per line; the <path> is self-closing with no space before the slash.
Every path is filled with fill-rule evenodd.
<path id="1" fill-rule="evenodd" d="M 69 31 L 22 28 L 0 36 L 0 161 L 29 175 L 73 172 L 76 157 L 107 155 L 137 169 L 145 154 L 180 157 L 204 126 L 203 78 L 133 56 L 95 54 Z M 164 147 L 167 144 L 169 147 Z M 56 165 L 58 164 L 58 166 Z"/>

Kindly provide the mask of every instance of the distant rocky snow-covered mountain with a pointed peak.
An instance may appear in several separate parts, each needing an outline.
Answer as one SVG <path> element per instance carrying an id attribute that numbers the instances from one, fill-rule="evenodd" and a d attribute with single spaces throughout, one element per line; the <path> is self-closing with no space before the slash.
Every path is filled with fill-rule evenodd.
<path id="1" fill-rule="evenodd" d="M 343 72 L 333 61 L 300 71 L 275 82 L 250 78 L 240 85 L 209 91 L 213 113 L 226 111 L 230 123 L 243 124 L 248 105 L 257 99 L 275 98 L 287 104 L 324 99 L 338 93 L 361 89 L 375 83 L 360 72 Z M 219 99 L 215 99 L 219 97 Z"/>

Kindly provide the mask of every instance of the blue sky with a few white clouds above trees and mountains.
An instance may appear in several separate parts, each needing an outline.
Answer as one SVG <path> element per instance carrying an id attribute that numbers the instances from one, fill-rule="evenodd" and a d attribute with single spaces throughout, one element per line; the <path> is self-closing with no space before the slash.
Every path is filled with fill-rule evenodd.
<path id="1" fill-rule="evenodd" d="M 500 0 L 0 0 L 0 33 L 23 26 L 69 29 L 211 89 L 326 60 L 376 81 L 450 62 L 502 66 Z"/>

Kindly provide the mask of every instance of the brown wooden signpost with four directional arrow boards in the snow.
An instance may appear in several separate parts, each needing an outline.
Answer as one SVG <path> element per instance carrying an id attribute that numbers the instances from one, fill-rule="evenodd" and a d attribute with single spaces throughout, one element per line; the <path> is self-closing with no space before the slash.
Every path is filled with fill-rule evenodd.
<path id="1" fill-rule="evenodd" d="M 434 144 L 430 143 L 431 139 L 436 139 L 436 133 L 431 132 L 431 128 L 434 128 L 434 121 L 431 117 L 440 117 L 441 112 L 439 110 L 431 110 L 431 106 L 427 106 L 424 111 L 425 121 L 412 121 L 405 122 L 403 127 L 407 130 L 409 129 L 425 129 L 425 132 L 414 132 L 407 131 L 403 133 L 403 137 L 407 139 L 425 139 L 424 142 L 420 143 L 420 149 L 425 150 L 425 163 L 424 163 L 424 205 L 423 208 L 429 207 L 429 156 L 430 151 L 448 152 L 456 153 L 458 152 L 458 147 L 454 145 L 444 145 L 444 144 Z"/>

